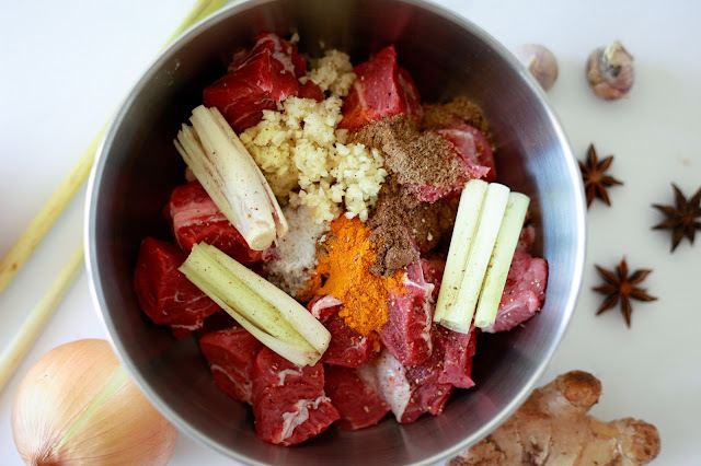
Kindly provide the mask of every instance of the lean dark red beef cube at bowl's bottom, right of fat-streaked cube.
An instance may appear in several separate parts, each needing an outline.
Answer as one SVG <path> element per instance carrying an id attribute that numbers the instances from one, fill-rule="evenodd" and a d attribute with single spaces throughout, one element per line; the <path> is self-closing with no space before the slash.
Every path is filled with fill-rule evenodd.
<path id="1" fill-rule="evenodd" d="M 358 430 L 375 426 L 389 412 L 389 405 L 358 376 L 355 369 L 326 365 L 324 378 L 326 396 L 341 413 L 338 429 Z"/>

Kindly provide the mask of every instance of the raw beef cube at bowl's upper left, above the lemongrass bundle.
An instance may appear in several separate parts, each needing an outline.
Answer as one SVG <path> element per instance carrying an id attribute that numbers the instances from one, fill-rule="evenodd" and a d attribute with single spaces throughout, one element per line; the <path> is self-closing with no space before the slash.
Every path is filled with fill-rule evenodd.
<path id="1" fill-rule="evenodd" d="M 272 33 L 255 38 L 248 54 L 237 54 L 229 72 L 205 88 L 207 107 L 217 107 L 235 132 L 255 126 L 263 110 L 274 110 L 288 95 L 297 95 L 307 63 L 297 46 Z"/>

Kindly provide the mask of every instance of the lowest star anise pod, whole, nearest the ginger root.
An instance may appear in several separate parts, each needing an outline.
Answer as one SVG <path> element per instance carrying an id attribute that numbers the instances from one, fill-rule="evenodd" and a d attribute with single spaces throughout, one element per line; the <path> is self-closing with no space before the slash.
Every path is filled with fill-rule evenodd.
<path id="1" fill-rule="evenodd" d="M 647 277 L 650 272 L 652 272 L 652 270 L 635 270 L 635 272 L 633 272 L 633 275 L 629 277 L 625 257 L 621 259 L 621 264 L 619 264 L 619 266 L 616 268 L 616 273 L 610 270 L 606 270 L 605 268 L 597 265 L 595 265 L 595 267 L 599 271 L 599 275 L 604 278 L 604 280 L 608 282 L 608 284 L 593 288 L 593 290 L 598 293 L 607 294 L 606 301 L 601 303 L 601 306 L 596 312 L 596 315 L 610 310 L 620 301 L 621 313 L 625 318 L 625 324 L 630 328 L 631 314 L 633 313 L 631 299 L 637 301 L 655 301 L 657 299 L 647 294 L 646 289 L 636 287 L 636 284 L 640 284 L 643 280 L 645 280 L 645 277 Z"/>

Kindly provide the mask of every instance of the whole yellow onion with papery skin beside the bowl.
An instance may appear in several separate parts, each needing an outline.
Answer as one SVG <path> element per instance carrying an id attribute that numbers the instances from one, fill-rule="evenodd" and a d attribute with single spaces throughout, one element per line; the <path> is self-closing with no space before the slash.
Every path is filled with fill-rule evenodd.
<path id="1" fill-rule="evenodd" d="M 177 430 L 127 376 L 105 340 L 46 353 L 12 406 L 14 443 L 28 465 L 165 465 Z"/>

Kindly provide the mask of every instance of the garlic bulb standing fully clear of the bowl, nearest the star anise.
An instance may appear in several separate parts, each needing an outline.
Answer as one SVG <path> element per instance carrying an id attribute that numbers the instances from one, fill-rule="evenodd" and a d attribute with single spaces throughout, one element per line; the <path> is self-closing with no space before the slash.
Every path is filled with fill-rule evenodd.
<path id="1" fill-rule="evenodd" d="M 633 86 L 633 56 L 618 40 L 599 47 L 589 55 L 587 79 L 594 93 L 605 101 L 627 97 Z"/>

